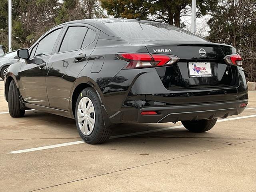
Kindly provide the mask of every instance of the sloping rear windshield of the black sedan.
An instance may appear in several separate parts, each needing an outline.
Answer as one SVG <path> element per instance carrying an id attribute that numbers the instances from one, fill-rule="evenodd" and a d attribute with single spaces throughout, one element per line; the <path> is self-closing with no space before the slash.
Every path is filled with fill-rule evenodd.
<path id="1" fill-rule="evenodd" d="M 112 22 L 105 24 L 118 36 L 127 40 L 206 41 L 186 30 L 162 23 Z"/>

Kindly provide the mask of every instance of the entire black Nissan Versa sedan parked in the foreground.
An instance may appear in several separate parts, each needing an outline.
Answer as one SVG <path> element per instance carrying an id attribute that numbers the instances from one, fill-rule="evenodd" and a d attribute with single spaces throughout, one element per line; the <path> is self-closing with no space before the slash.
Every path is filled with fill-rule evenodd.
<path id="1" fill-rule="evenodd" d="M 4 82 L 10 115 L 36 109 L 74 118 L 90 144 L 122 122 L 181 121 L 205 132 L 248 103 L 234 47 L 158 22 L 67 22 L 17 54 Z"/>

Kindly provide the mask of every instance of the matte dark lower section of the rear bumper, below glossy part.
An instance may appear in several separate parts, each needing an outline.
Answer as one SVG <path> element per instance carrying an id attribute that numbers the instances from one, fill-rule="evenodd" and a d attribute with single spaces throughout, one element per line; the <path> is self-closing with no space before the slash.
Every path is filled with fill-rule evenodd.
<path id="1" fill-rule="evenodd" d="M 163 123 L 184 120 L 226 118 L 231 115 L 242 113 L 245 107 L 240 108 L 240 105 L 247 103 L 248 100 L 240 100 L 237 102 L 142 108 L 138 110 L 137 122 Z M 141 115 L 141 112 L 144 111 L 155 111 L 157 114 Z"/>

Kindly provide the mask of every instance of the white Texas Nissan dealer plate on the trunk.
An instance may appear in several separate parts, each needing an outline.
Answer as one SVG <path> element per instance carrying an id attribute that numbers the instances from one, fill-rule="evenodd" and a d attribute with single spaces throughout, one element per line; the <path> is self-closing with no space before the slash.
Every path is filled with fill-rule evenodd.
<path id="1" fill-rule="evenodd" d="M 190 78 L 212 77 L 210 62 L 188 62 L 188 75 Z"/>

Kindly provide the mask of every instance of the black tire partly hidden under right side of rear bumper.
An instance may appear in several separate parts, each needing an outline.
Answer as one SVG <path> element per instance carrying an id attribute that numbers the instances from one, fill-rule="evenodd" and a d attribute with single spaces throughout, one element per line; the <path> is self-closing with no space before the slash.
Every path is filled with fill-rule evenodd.
<path id="1" fill-rule="evenodd" d="M 217 118 L 213 120 L 192 120 L 192 121 L 181 121 L 184 127 L 190 132 L 201 133 L 206 132 L 214 127 L 217 122 Z"/>

